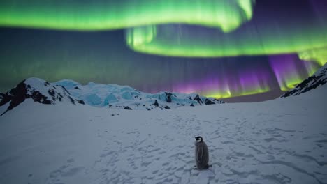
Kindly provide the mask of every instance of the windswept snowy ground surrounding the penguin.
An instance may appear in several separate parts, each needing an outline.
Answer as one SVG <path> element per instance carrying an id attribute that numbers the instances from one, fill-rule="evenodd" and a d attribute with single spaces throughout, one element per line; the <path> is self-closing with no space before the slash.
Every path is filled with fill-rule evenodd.
<path id="1" fill-rule="evenodd" d="M 0 117 L 0 183 L 327 183 L 326 93 L 151 112 L 24 102 Z M 196 135 L 207 171 L 192 169 Z"/>

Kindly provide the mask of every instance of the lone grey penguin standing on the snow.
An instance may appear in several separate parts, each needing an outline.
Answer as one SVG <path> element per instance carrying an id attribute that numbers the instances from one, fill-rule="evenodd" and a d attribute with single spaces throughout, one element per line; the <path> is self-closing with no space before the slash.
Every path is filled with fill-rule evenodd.
<path id="1" fill-rule="evenodd" d="M 195 160 L 196 160 L 196 169 L 203 170 L 208 169 L 210 165 L 209 162 L 209 151 L 208 146 L 203 141 L 201 136 L 194 137 L 196 139 L 195 142 Z"/>

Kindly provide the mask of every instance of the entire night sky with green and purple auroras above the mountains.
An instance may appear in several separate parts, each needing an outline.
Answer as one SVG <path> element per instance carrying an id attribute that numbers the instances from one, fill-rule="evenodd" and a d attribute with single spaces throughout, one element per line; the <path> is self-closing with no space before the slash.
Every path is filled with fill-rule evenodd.
<path id="1" fill-rule="evenodd" d="M 2 0 L 0 40 L 1 92 L 39 77 L 269 100 L 326 63 L 327 2 Z"/>

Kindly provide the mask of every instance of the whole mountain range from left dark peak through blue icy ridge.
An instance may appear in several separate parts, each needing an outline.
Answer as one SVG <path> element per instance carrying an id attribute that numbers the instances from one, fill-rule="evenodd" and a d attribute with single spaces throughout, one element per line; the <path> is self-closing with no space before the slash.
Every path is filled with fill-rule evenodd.
<path id="1" fill-rule="evenodd" d="M 110 109 L 172 109 L 184 106 L 212 105 L 224 103 L 215 98 L 205 98 L 196 93 L 143 93 L 130 86 L 117 84 L 89 84 L 82 86 L 72 80 L 61 80 L 49 83 L 43 79 L 26 79 L 7 93 L 0 93 L 0 106 L 6 106 L 4 114 L 17 107 L 25 99 L 31 98 L 34 102 L 56 104 L 68 102 L 71 104 L 86 104 L 94 107 Z M 3 108 L 1 108 L 3 109 Z M 0 116 L 1 116 L 0 115 Z"/>

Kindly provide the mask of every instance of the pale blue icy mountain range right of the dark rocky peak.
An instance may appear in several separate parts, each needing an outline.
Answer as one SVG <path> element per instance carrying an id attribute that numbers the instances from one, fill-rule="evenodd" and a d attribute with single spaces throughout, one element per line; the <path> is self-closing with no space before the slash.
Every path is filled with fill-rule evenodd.
<path id="1" fill-rule="evenodd" d="M 143 93 L 130 86 L 117 84 L 89 84 L 82 86 L 78 82 L 64 79 L 53 84 L 64 86 L 75 98 L 94 107 L 111 109 L 172 109 L 184 106 L 212 105 L 224 103 L 215 98 L 205 98 L 196 93 Z"/>

